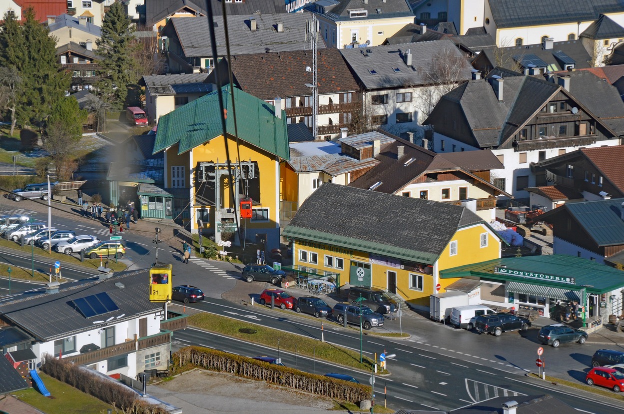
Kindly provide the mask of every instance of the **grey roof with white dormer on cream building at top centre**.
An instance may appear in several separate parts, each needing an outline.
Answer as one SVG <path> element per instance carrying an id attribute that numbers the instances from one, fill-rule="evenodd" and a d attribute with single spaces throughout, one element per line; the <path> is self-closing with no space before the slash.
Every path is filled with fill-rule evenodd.
<path id="1" fill-rule="evenodd" d="M 318 11 L 319 7 L 322 7 L 323 12 Z M 362 0 L 320 0 L 303 8 L 334 22 L 413 16 L 406 0 L 368 0 L 366 3 Z M 351 18 L 349 17 L 351 10 L 366 10 L 368 16 Z"/>

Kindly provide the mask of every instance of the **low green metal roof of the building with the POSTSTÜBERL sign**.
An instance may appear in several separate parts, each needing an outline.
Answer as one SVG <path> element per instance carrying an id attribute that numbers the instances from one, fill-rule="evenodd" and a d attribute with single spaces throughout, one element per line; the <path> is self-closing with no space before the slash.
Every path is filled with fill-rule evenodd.
<path id="1" fill-rule="evenodd" d="M 494 273 L 494 267 L 497 266 L 507 266 L 507 269 L 534 272 L 535 274 L 574 277 L 575 283 L 565 284 L 537 277 L 497 274 Z M 587 292 L 593 294 L 608 293 L 624 287 L 623 271 L 595 261 L 577 258 L 575 256 L 567 256 L 565 254 L 492 259 L 440 271 L 440 277 L 442 279 L 470 276 L 486 277 L 492 280 L 541 284 L 550 287 L 574 287 L 575 289 L 580 289 L 582 286 L 586 286 Z"/>

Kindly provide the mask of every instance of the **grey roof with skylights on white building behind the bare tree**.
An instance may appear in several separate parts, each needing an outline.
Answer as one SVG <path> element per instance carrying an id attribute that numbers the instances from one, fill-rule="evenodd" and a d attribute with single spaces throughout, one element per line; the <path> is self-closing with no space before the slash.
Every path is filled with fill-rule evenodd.
<path id="1" fill-rule="evenodd" d="M 408 51 L 412 55 L 411 66 L 403 60 Z M 431 84 L 432 73 L 440 59 L 456 61 L 462 68 L 457 75 L 459 82 L 472 77 L 472 67 L 449 39 L 340 49 L 340 52 L 366 89 Z"/>

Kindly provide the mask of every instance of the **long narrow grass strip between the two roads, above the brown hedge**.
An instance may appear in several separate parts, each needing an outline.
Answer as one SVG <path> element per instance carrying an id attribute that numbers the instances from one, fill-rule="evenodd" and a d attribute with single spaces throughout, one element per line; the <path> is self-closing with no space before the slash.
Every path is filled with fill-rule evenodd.
<path id="1" fill-rule="evenodd" d="M 279 346 L 282 350 L 297 352 L 300 355 L 316 357 L 368 372 L 372 370 L 371 368 L 374 364 L 373 360 L 366 357 L 366 355 L 363 357 L 363 363 L 360 363 L 359 352 L 328 344 L 327 342 L 321 342 L 318 339 L 288 334 L 288 332 L 283 332 L 281 330 L 249 324 L 218 315 L 201 312 L 192 315 L 189 324 L 231 337 L 268 345 L 270 347 L 277 348 Z M 255 332 L 253 334 L 243 333 L 252 331 Z M 278 340 L 280 341 L 279 345 Z M 378 372 L 382 373 L 380 371 Z"/>

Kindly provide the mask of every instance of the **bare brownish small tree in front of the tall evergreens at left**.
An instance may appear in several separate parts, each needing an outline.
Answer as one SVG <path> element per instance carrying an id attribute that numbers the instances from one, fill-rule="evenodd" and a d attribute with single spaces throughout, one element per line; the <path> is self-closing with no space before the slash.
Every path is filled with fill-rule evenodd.
<path id="1" fill-rule="evenodd" d="M 42 148 L 50 154 L 50 160 L 56 168 L 56 176 L 61 181 L 69 181 L 76 170 L 74 153 L 79 150 L 80 139 L 65 122 L 54 122 L 46 128 L 47 137 Z"/>

